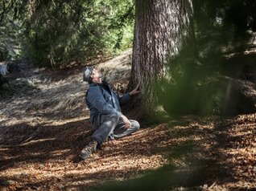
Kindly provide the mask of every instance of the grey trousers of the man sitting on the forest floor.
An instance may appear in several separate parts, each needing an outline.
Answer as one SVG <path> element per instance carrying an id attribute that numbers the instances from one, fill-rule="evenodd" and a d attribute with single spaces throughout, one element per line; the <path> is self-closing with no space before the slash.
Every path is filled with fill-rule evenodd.
<path id="1" fill-rule="evenodd" d="M 108 136 L 121 138 L 138 131 L 138 121 L 130 120 L 130 124 L 130 128 L 125 128 L 122 119 L 119 120 L 119 117 L 114 114 L 98 115 L 93 120 L 94 132 L 92 140 L 97 141 L 98 144 L 102 144 Z"/>

